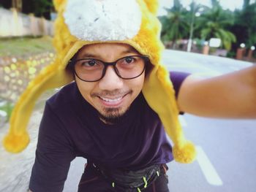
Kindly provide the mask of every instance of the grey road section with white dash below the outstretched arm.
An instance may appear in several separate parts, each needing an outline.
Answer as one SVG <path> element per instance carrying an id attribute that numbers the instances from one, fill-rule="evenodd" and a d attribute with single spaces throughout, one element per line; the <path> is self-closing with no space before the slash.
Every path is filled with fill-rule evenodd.
<path id="1" fill-rule="evenodd" d="M 197 161 L 170 163 L 170 191 L 254 192 L 256 120 L 220 120 L 184 115 Z"/>

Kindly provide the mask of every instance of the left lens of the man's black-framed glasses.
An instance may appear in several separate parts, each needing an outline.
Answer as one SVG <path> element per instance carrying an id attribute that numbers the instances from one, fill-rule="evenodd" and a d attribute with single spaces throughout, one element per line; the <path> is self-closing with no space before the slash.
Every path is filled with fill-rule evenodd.
<path id="1" fill-rule="evenodd" d="M 97 81 L 102 77 L 104 64 L 95 59 L 81 59 L 75 63 L 75 73 L 81 80 Z"/>

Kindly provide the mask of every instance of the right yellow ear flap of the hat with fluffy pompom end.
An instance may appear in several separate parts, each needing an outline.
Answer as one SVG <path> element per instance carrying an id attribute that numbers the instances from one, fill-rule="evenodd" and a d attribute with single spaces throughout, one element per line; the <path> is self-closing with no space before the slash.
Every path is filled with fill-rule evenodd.
<path id="1" fill-rule="evenodd" d="M 167 135 L 173 141 L 173 157 L 179 163 L 191 163 L 196 151 L 192 142 L 185 139 L 178 120 L 178 107 L 173 85 L 163 66 L 154 66 L 143 86 L 143 95 L 149 106 L 157 112 Z"/>

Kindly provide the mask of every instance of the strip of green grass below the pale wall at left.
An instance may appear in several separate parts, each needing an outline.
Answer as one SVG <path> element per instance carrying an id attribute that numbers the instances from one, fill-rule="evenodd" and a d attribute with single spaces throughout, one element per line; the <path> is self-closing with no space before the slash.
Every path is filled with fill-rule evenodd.
<path id="1" fill-rule="evenodd" d="M 1 56 L 23 56 L 53 52 L 51 37 L 16 37 L 0 39 Z"/>

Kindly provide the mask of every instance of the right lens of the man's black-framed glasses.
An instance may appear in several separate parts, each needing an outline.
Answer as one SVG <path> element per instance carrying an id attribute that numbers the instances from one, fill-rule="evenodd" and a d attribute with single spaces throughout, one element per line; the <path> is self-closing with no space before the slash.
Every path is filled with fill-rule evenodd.
<path id="1" fill-rule="evenodd" d="M 145 58 L 142 56 L 128 56 L 116 62 L 118 74 L 124 79 L 138 77 L 145 68 Z"/>

